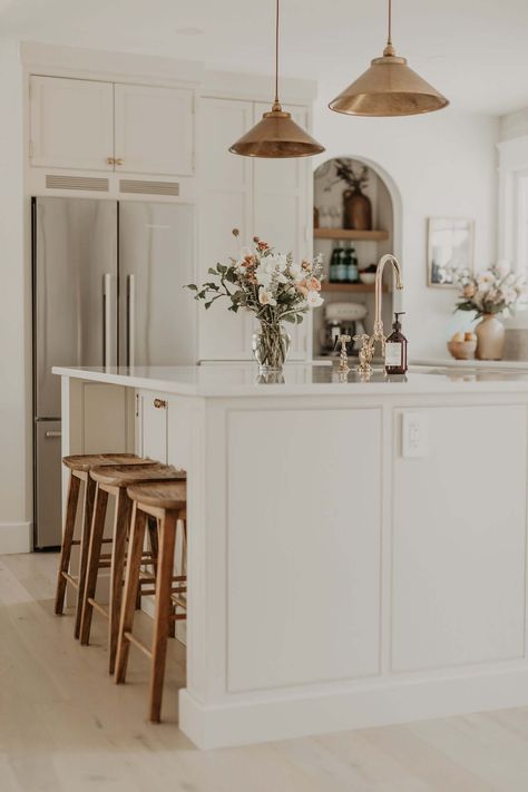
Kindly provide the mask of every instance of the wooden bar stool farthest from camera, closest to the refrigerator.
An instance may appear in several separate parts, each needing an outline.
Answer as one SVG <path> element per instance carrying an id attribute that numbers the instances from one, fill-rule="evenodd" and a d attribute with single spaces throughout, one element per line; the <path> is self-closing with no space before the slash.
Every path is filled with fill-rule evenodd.
<path id="1" fill-rule="evenodd" d="M 70 480 L 62 532 L 62 547 L 60 551 L 59 573 L 57 578 L 57 593 L 55 597 L 55 613 L 60 615 L 65 608 L 66 585 L 69 583 L 77 589 L 77 604 L 75 614 L 75 637 L 79 637 L 80 620 L 82 615 L 82 598 L 88 563 L 88 547 L 94 515 L 96 482 L 90 479 L 90 470 L 102 465 L 148 465 L 148 459 L 143 459 L 135 453 L 84 453 L 65 457 L 62 463 L 69 468 Z M 82 518 L 80 539 L 74 539 L 77 510 L 79 507 L 80 483 L 84 481 Z M 71 548 L 80 545 L 78 575 L 70 573 Z M 105 558 L 108 560 L 108 556 Z"/>

